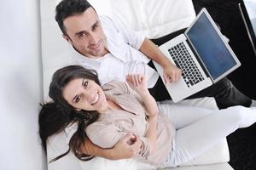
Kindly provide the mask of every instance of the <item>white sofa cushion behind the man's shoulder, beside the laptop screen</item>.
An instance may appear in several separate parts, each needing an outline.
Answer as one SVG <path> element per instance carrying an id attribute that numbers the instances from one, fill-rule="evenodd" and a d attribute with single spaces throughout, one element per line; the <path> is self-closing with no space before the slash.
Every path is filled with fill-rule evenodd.
<path id="1" fill-rule="evenodd" d="M 195 19 L 191 0 L 89 0 L 98 14 L 124 21 L 126 26 L 146 37 L 163 37 L 188 27 Z"/>

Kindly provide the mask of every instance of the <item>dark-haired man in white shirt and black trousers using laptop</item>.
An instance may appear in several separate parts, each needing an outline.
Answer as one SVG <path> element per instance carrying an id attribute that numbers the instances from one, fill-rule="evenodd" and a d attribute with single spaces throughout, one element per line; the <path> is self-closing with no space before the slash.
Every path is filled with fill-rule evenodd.
<path id="1" fill-rule="evenodd" d="M 56 7 L 55 20 L 63 37 L 73 45 L 74 58 L 80 65 L 98 72 L 102 84 L 132 73 L 148 77 L 150 93 L 158 101 L 171 99 L 158 73 L 152 69 L 151 59 L 164 69 L 165 83 L 176 82 L 182 71 L 166 59 L 153 42 L 129 30 L 117 20 L 98 17 L 85 0 L 63 0 Z M 150 66 L 149 66 L 150 65 Z M 255 105 L 255 101 L 241 94 L 224 78 L 189 99 L 214 97 L 220 109 L 232 105 Z"/>

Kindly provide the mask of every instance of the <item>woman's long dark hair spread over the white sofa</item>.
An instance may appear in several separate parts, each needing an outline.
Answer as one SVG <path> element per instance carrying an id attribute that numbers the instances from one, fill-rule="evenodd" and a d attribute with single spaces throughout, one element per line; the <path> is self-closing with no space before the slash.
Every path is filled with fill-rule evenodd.
<path id="1" fill-rule="evenodd" d="M 67 86 L 67 83 L 77 78 L 86 78 L 100 85 L 96 71 L 85 69 L 79 65 L 63 67 L 55 71 L 49 85 L 49 97 L 53 99 L 53 102 L 44 104 L 39 113 L 39 135 L 45 150 L 49 136 L 61 132 L 70 123 L 78 123 L 78 130 L 69 141 L 69 150 L 61 156 L 57 156 L 52 161 L 66 156 L 70 150 L 73 151 L 79 160 L 88 161 L 93 158 L 93 156 L 81 153 L 80 148 L 83 146 L 85 140 L 88 139 L 84 130 L 85 127 L 92 122 L 96 122 L 99 113 L 97 111 L 76 111 L 72 105 L 67 103 L 62 95 L 63 88 Z"/>

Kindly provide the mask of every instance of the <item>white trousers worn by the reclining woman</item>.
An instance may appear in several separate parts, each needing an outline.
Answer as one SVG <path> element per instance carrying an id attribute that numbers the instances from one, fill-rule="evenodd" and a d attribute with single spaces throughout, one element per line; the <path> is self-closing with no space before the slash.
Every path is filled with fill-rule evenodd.
<path id="1" fill-rule="evenodd" d="M 256 109 L 233 106 L 209 110 L 193 106 L 159 104 L 160 111 L 176 127 L 172 151 L 160 167 L 177 167 L 194 159 L 237 128 L 256 122 Z"/>

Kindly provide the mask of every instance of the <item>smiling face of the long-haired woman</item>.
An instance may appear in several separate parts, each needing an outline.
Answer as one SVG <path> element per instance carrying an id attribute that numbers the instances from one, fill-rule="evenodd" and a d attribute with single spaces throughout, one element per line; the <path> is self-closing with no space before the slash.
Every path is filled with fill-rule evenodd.
<path id="1" fill-rule="evenodd" d="M 77 78 L 68 82 L 63 89 L 63 97 L 78 111 L 104 111 L 108 107 L 102 88 L 86 78 Z"/>

